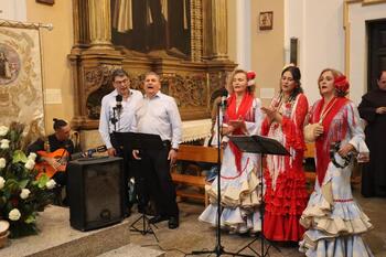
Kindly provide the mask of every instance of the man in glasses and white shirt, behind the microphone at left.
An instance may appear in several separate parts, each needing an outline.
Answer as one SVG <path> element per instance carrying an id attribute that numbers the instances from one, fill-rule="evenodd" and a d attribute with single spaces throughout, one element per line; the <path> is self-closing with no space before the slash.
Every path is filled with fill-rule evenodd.
<path id="1" fill-rule="evenodd" d="M 135 176 L 133 162 L 130 161 L 130 154 L 122 151 L 121 142 L 118 142 L 114 132 L 129 132 L 135 119 L 135 109 L 137 104 L 142 99 L 139 90 L 130 89 L 130 78 L 126 71 L 118 68 L 111 74 L 112 86 L 115 90 L 104 96 L 101 99 L 99 133 L 107 147 L 109 156 L 124 158 L 125 169 L 125 194 L 124 201 L 128 205 L 125 210 L 126 215 L 130 215 L 132 203 L 128 201 L 128 180 Z M 127 147 L 127 146 L 125 146 Z M 131 150 L 129 150 L 131 152 Z"/>

